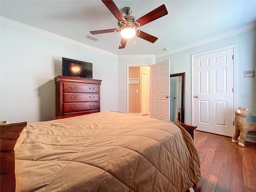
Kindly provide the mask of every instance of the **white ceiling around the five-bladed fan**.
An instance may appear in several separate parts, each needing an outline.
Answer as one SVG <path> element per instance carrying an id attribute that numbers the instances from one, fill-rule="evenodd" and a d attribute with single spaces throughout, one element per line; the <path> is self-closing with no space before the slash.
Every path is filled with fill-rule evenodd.
<path id="1" fill-rule="evenodd" d="M 114 0 L 122 12 L 132 7 L 140 18 L 165 4 L 168 15 L 139 29 L 158 37 L 152 44 L 136 37 L 118 49 L 120 32 L 92 35 L 92 30 L 118 28 L 117 19 L 100 0 L 1 0 L 0 14 L 60 36 L 118 55 L 161 54 L 256 22 L 256 0 Z M 122 12 L 123 13 L 123 12 Z"/>

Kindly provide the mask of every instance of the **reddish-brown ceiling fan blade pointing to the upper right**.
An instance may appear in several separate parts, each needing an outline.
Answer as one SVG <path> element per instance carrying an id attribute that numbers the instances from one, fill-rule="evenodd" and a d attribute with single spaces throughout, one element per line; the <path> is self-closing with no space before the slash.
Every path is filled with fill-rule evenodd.
<path id="1" fill-rule="evenodd" d="M 142 25 L 152 22 L 162 16 L 165 16 L 167 14 L 168 14 L 168 12 L 167 12 L 166 6 L 164 4 L 162 4 L 161 6 L 152 10 L 148 14 L 142 16 L 141 18 L 138 18 L 137 21 L 140 22 L 140 26 L 142 26 Z"/>

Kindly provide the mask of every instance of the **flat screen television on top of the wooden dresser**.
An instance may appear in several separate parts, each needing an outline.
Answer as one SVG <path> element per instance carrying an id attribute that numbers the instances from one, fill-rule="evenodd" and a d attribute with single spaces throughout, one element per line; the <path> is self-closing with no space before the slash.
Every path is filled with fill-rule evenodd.
<path id="1" fill-rule="evenodd" d="M 62 57 L 62 75 L 92 79 L 92 63 Z"/>

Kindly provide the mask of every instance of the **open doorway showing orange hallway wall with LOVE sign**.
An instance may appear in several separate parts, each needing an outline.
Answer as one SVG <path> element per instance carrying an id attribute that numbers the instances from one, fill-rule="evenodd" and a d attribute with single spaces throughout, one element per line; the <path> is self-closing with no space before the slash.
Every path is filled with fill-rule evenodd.
<path id="1" fill-rule="evenodd" d="M 149 115 L 150 67 L 128 66 L 127 113 Z"/>

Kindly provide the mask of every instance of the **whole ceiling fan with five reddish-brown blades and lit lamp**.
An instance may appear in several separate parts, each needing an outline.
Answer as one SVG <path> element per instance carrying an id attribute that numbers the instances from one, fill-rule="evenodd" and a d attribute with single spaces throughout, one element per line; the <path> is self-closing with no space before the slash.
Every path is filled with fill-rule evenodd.
<path id="1" fill-rule="evenodd" d="M 135 17 L 131 16 L 132 8 L 125 7 L 124 14 L 122 15 L 116 4 L 113 0 L 102 0 L 102 2 L 106 5 L 106 7 L 110 10 L 110 12 L 116 17 L 118 20 L 118 27 L 114 29 L 105 29 L 105 30 L 97 30 L 97 31 L 90 31 L 91 34 L 102 34 L 102 33 L 110 33 L 110 32 L 120 32 L 121 33 L 121 43 L 119 45 L 119 49 L 125 48 L 127 39 L 132 38 L 134 36 L 138 36 L 144 40 L 147 40 L 151 43 L 154 43 L 158 38 L 147 34 L 141 30 L 137 30 L 138 27 L 143 26 L 149 22 L 152 22 L 162 16 L 168 14 L 166 6 L 163 4 L 158 8 L 152 10 L 148 14 L 136 19 Z"/>

